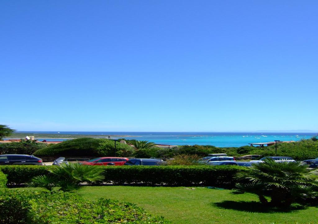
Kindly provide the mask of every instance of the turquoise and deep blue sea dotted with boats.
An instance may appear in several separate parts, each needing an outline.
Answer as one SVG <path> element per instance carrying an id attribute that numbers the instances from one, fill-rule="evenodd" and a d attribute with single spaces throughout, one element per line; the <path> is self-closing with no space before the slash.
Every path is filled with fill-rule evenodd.
<path id="1" fill-rule="evenodd" d="M 19 132 L 23 133 L 23 132 Z M 30 132 L 26 132 L 30 133 Z M 57 134 L 58 132 L 32 132 L 36 134 Z M 217 147 L 245 146 L 249 143 L 280 141 L 299 141 L 310 139 L 316 133 L 282 133 L 282 132 L 59 132 L 59 134 L 96 135 L 98 138 L 112 139 L 122 136 L 126 139 L 147 140 L 163 145 L 213 145 Z M 40 141 L 44 139 L 38 139 Z M 45 139 L 47 141 L 64 141 L 68 139 Z"/>

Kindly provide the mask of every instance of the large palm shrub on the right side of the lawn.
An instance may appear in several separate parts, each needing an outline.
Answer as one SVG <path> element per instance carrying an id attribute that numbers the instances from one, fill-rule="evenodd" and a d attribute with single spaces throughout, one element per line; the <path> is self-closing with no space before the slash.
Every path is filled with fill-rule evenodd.
<path id="1" fill-rule="evenodd" d="M 253 163 L 240 171 L 234 193 L 252 193 L 270 206 L 290 206 L 292 203 L 316 194 L 318 172 L 302 162 L 277 163 L 272 159 Z M 267 197 L 271 198 L 268 202 Z"/>

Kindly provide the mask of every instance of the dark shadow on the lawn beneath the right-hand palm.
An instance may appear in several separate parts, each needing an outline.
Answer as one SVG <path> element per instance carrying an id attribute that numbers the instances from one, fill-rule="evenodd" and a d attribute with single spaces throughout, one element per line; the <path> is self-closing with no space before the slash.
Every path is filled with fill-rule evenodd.
<path id="1" fill-rule="evenodd" d="M 222 201 L 211 203 L 211 205 L 218 208 L 253 213 L 288 213 L 295 210 L 306 209 L 306 207 L 299 204 L 295 204 L 290 207 L 270 207 L 256 201 Z"/>

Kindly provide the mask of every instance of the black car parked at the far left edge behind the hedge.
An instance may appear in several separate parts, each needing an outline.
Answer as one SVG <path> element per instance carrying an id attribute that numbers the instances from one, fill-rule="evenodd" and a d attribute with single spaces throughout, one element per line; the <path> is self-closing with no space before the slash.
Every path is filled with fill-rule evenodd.
<path id="1" fill-rule="evenodd" d="M 43 165 L 42 159 L 33 155 L 5 154 L 0 155 L 0 165 Z"/>

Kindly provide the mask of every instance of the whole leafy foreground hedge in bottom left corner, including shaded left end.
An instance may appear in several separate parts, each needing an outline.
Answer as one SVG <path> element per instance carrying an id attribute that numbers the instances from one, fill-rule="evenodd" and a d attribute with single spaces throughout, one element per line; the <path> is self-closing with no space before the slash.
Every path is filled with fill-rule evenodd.
<path id="1" fill-rule="evenodd" d="M 169 223 L 131 203 L 98 199 L 91 202 L 75 193 L 0 192 L 0 223 Z"/>

